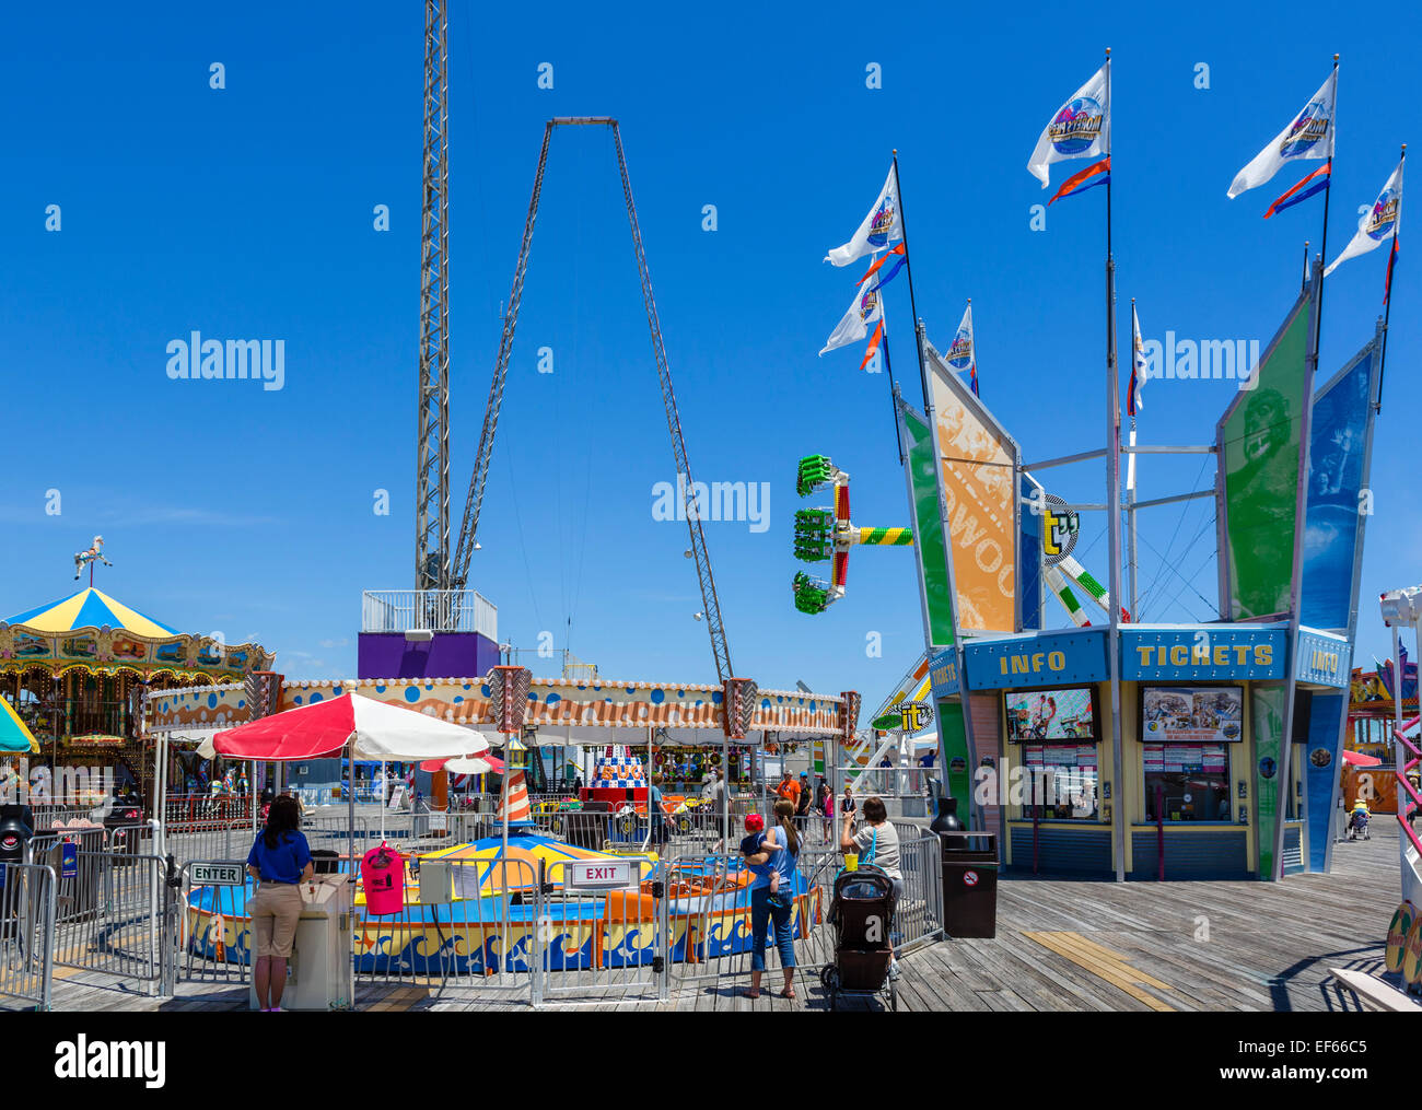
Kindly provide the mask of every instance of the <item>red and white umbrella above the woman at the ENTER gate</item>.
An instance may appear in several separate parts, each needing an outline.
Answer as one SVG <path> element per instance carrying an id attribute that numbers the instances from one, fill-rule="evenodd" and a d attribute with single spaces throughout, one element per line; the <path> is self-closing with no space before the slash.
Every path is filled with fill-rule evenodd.
<path id="1" fill-rule="evenodd" d="M 289 762 L 347 753 L 354 759 L 422 760 L 479 756 L 474 729 L 358 694 L 287 709 L 216 733 L 203 748 L 235 759 Z M 202 753 L 202 749 L 199 749 Z"/>

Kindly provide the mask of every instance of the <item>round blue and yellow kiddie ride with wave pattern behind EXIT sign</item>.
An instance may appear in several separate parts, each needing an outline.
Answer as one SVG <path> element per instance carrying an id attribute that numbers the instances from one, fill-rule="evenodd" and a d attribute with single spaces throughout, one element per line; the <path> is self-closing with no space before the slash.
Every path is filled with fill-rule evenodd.
<path id="1" fill-rule="evenodd" d="M 569 863 L 629 858 L 636 885 L 565 894 Z M 455 897 L 422 905 L 419 870 L 434 861 L 456 864 Z M 501 968 L 529 971 L 535 962 L 550 971 L 589 971 L 650 965 L 663 954 L 694 964 L 751 949 L 752 875 L 739 861 L 729 868 L 718 857 L 668 866 L 654 853 L 613 856 L 520 833 L 510 836 L 506 857 L 502 839 L 489 837 L 407 856 L 404 866 L 398 914 L 370 914 L 357 887 L 357 974 L 485 975 Z M 660 934 L 658 885 L 667 900 L 667 937 Z M 808 937 L 823 920 L 820 888 L 796 874 L 791 894 L 792 928 L 796 937 Z M 250 885 L 191 891 L 182 910 L 188 951 L 202 959 L 247 964 L 250 897 Z"/>

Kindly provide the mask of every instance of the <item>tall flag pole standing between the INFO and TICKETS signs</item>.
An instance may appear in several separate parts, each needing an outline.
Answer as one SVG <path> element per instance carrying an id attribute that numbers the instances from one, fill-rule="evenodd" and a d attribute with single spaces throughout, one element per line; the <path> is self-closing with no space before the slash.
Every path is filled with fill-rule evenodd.
<path id="1" fill-rule="evenodd" d="M 1111 111 L 1111 47 L 1106 47 L 1106 111 Z M 1106 151 L 1111 155 L 1111 151 Z M 900 198 L 902 203 L 902 198 Z M 907 235 L 907 229 L 904 229 Z M 1126 880 L 1125 772 L 1121 753 L 1121 379 L 1116 371 L 1116 260 L 1111 243 L 1111 178 L 1106 178 L 1106 519 L 1111 541 L 1111 775 L 1116 806 L 1112 841 L 1116 881 Z"/>

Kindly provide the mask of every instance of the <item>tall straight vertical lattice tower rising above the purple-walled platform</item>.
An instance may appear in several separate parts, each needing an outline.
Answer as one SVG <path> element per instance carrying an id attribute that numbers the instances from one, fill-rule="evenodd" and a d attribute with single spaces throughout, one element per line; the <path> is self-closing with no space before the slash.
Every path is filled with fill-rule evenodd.
<path id="1" fill-rule="evenodd" d="M 425 192 L 419 246 L 415 588 L 449 586 L 449 17 L 425 0 Z"/>

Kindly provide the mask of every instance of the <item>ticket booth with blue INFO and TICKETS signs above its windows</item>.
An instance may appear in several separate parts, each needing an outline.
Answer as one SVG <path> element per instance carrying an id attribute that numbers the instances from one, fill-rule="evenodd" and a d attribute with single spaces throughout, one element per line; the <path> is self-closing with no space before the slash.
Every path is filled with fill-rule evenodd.
<path id="1" fill-rule="evenodd" d="M 966 645 L 973 813 L 1015 871 L 1271 878 L 1327 870 L 1348 644 L 1278 625 L 1122 625 Z M 1290 672 L 1290 659 L 1294 672 Z M 1290 736 L 1284 729 L 1288 721 Z"/>

